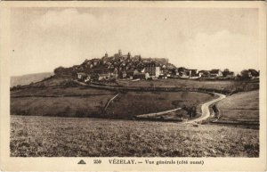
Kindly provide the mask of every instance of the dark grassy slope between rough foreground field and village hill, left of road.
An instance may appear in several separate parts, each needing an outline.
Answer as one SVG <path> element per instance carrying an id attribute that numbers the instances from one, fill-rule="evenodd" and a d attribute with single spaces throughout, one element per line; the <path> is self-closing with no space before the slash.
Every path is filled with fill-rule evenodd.
<path id="1" fill-rule="evenodd" d="M 31 116 L 101 117 L 131 119 L 143 113 L 167 111 L 179 107 L 191 108 L 214 98 L 212 94 L 196 92 L 124 92 L 104 106 L 114 91 L 86 86 L 28 87 L 11 92 L 11 113 Z M 198 110 L 200 107 L 198 106 Z M 188 119 L 188 111 L 169 114 L 170 118 Z"/>

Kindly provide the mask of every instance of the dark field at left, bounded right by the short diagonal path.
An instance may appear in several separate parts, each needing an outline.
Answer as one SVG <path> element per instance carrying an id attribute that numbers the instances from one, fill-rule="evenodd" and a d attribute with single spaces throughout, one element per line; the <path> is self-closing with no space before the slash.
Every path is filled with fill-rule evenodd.
<path id="1" fill-rule="evenodd" d="M 99 116 L 113 95 L 87 97 L 25 97 L 11 98 L 11 113 L 59 117 Z"/>

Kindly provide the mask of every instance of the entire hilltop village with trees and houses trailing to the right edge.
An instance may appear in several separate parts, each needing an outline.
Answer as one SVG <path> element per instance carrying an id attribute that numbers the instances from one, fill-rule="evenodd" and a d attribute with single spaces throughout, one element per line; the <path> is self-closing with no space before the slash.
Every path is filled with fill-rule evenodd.
<path id="1" fill-rule="evenodd" d="M 259 71 L 246 70 L 246 78 L 258 78 Z M 242 74 L 241 72 L 241 74 Z M 233 71 L 195 70 L 184 67 L 176 68 L 165 58 L 142 58 L 141 55 L 123 54 L 121 50 L 112 56 L 105 53 L 101 59 L 85 60 L 81 65 L 71 68 L 57 68 L 55 75 L 69 75 L 83 82 L 109 81 L 116 79 L 155 79 L 155 78 L 188 78 L 188 79 L 237 79 Z"/>

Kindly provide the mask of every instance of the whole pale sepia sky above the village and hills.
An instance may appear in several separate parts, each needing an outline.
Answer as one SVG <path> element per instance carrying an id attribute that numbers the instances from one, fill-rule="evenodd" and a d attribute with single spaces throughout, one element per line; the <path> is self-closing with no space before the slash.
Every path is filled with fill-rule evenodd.
<path id="1" fill-rule="evenodd" d="M 11 30 L 12 76 L 119 49 L 189 69 L 259 70 L 253 8 L 13 8 Z"/>

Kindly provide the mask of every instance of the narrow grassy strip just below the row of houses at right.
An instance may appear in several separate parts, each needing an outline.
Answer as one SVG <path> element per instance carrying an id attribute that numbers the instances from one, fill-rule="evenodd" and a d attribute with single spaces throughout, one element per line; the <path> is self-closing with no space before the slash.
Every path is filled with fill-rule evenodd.
<path id="1" fill-rule="evenodd" d="M 118 80 L 120 86 L 155 86 L 155 87 L 180 87 L 226 90 L 228 92 L 249 91 L 259 88 L 258 81 L 235 81 L 235 80 L 191 80 L 191 79 L 156 79 L 156 80 Z"/>

